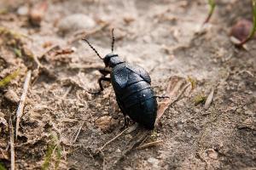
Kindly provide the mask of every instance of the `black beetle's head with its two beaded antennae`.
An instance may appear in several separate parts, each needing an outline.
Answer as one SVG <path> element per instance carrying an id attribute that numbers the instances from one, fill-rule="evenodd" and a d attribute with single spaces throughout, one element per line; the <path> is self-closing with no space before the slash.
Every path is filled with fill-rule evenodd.
<path id="1" fill-rule="evenodd" d="M 101 57 L 100 54 L 98 54 L 98 52 L 96 51 L 96 49 L 94 47 L 92 47 L 92 45 L 90 45 L 90 42 L 88 42 L 88 40 L 86 38 L 83 39 L 85 42 L 88 43 L 88 45 L 90 46 L 90 48 L 92 48 L 95 53 L 97 54 L 97 56 L 103 60 L 104 64 L 106 67 L 114 67 L 115 65 L 119 65 L 120 63 L 123 63 L 124 61 L 122 59 L 119 59 L 119 55 L 118 54 L 113 54 L 113 43 L 114 43 L 114 37 L 113 37 L 113 30 L 112 30 L 112 44 L 111 44 L 111 49 L 112 49 L 112 53 L 111 54 L 107 54 L 104 58 Z"/>

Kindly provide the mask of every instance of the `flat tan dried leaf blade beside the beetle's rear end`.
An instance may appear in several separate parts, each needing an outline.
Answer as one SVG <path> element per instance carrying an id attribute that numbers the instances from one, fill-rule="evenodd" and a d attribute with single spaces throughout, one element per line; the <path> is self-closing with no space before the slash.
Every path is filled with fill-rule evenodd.
<path id="1" fill-rule="evenodd" d="M 172 105 L 175 101 L 177 101 L 177 99 L 179 99 L 184 91 L 190 86 L 190 83 L 185 85 L 184 82 L 185 81 L 180 77 L 171 78 L 166 90 L 166 95 L 170 98 L 163 99 L 163 101 L 160 103 L 155 124 L 159 122 L 160 117 L 163 116 L 169 105 Z"/>

